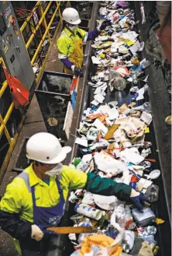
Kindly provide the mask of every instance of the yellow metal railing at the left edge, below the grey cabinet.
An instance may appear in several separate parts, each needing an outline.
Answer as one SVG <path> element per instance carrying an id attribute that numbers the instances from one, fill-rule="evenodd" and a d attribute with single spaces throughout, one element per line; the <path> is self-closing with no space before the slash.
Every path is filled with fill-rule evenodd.
<path id="1" fill-rule="evenodd" d="M 3 68 L 5 61 L 0 58 L 0 183 L 24 120 L 24 114 L 14 107 Z"/>

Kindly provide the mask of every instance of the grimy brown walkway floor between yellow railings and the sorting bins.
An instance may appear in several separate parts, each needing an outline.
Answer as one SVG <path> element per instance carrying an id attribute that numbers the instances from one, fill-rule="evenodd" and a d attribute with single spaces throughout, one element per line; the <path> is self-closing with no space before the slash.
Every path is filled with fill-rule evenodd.
<path id="1" fill-rule="evenodd" d="M 60 32 L 57 33 L 57 38 L 59 36 L 60 36 Z M 57 39 L 53 44 L 45 69 L 53 72 L 63 72 L 64 65 L 57 58 L 56 41 Z M 22 127 L 22 132 L 19 135 L 19 140 L 16 143 L 15 149 L 11 156 L 11 160 L 9 162 L 9 166 L 6 170 L 5 176 L 3 178 L 3 181 L 0 187 L 0 197 L 4 195 L 6 186 L 9 183 L 11 183 L 12 180 L 17 175 L 15 172 L 12 172 L 12 167 L 15 167 L 15 163 L 18 159 L 24 140 L 27 137 L 30 137 L 31 135 L 35 134 L 36 132 L 46 132 L 46 126 L 43 122 L 43 116 L 41 114 L 39 104 L 34 94 L 33 99 L 29 106 L 29 110 L 26 114 L 26 120 Z M 18 255 L 17 252 L 15 251 L 12 237 L 9 236 L 8 233 L 5 233 L 1 229 L 0 229 L 0 244 L 1 244 L 0 256 L 17 256 Z"/>

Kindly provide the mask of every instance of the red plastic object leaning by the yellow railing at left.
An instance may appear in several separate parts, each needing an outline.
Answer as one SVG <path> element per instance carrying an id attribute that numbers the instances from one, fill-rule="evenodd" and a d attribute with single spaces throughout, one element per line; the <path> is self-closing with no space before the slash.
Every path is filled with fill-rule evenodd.
<path id="1" fill-rule="evenodd" d="M 12 100 L 15 104 L 15 108 L 21 106 L 25 107 L 29 104 L 29 90 L 23 86 L 15 76 L 12 76 L 6 68 L 3 68 L 5 72 L 6 80 L 9 84 L 10 92 L 12 93 Z"/>

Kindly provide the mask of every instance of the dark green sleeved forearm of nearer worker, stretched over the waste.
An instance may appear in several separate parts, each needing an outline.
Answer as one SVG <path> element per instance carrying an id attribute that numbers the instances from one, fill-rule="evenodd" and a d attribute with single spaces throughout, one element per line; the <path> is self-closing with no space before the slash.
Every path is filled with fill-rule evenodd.
<path id="1" fill-rule="evenodd" d="M 93 194 L 115 195 L 117 198 L 129 200 L 132 188 L 123 183 L 117 183 L 112 179 L 101 178 L 99 175 L 87 174 L 88 180 L 84 189 Z"/>

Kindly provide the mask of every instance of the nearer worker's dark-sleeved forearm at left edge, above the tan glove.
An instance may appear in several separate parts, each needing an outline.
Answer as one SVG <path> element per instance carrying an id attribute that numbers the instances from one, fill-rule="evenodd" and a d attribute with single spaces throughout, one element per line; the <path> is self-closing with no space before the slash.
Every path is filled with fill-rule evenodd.
<path id="1" fill-rule="evenodd" d="M 9 233 L 12 237 L 21 240 L 31 237 L 31 223 L 19 219 L 18 214 L 12 214 L 0 210 L 0 226 L 2 230 Z"/>

